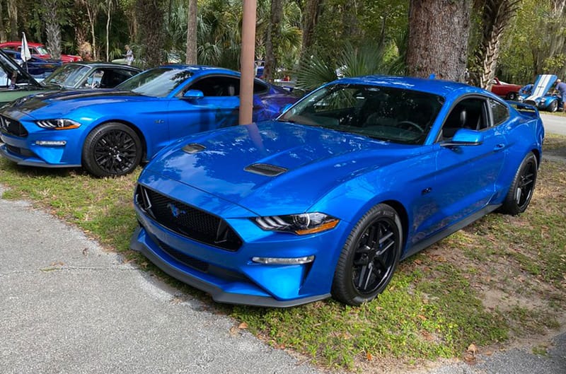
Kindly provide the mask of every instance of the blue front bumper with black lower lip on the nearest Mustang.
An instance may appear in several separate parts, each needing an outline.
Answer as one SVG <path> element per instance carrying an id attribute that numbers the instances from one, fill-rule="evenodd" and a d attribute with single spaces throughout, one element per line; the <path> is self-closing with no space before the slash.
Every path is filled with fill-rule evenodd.
<path id="1" fill-rule="evenodd" d="M 144 175 L 140 180 L 156 182 L 156 175 Z M 330 296 L 337 258 L 349 233 L 347 223 L 313 235 L 268 232 L 250 221 L 253 213 L 229 201 L 171 180 L 150 182 L 146 187 L 156 189 L 156 185 L 171 199 L 220 216 L 242 239 L 235 251 L 204 244 L 161 226 L 135 204 L 139 228 L 130 247 L 167 274 L 209 293 L 219 303 L 290 307 Z M 313 262 L 274 265 L 252 261 L 253 257 L 306 256 L 314 256 Z"/>

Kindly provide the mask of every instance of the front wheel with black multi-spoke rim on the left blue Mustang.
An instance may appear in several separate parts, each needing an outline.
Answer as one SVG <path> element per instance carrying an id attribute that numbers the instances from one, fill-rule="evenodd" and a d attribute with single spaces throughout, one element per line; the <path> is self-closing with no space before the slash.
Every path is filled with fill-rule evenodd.
<path id="1" fill-rule="evenodd" d="M 83 145 L 83 168 L 96 177 L 132 173 L 141 161 L 141 140 L 125 124 L 108 122 L 91 131 Z"/>

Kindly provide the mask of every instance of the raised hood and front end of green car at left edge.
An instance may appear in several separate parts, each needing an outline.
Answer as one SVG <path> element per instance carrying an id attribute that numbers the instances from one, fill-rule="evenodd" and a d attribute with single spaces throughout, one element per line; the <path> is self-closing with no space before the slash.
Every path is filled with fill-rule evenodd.
<path id="1" fill-rule="evenodd" d="M 0 49 L 0 106 L 48 90 Z"/>

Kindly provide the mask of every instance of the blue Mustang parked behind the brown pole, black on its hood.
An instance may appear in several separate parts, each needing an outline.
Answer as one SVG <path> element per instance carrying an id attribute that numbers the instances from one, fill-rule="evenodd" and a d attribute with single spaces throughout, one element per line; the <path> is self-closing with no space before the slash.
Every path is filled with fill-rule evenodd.
<path id="1" fill-rule="evenodd" d="M 180 137 L 237 124 L 239 88 L 236 71 L 169 65 L 116 90 L 27 96 L 0 109 L 0 154 L 19 165 L 127 174 Z M 257 121 L 276 117 L 296 98 L 256 79 L 253 100 Z"/>

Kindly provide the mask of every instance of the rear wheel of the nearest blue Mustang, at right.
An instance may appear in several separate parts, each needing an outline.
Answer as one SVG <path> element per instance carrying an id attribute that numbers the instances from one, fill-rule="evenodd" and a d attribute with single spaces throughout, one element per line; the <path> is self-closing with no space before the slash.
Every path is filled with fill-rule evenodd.
<path id="1" fill-rule="evenodd" d="M 536 157 L 532 152 L 529 152 L 519 165 L 499 211 L 512 216 L 525 211 L 531 202 L 531 197 L 533 197 L 537 170 Z"/>

